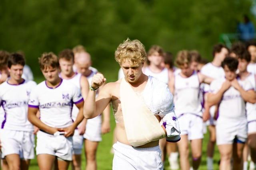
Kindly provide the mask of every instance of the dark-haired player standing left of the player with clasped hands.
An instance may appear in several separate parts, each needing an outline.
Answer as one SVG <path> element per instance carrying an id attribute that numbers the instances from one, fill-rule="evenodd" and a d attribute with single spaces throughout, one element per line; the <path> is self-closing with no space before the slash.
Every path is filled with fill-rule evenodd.
<path id="1" fill-rule="evenodd" d="M 34 127 L 27 115 L 28 98 L 36 83 L 22 78 L 24 65 L 22 55 L 10 55 L 10 78 L 0 85 L 0 101 L 5 112 L 1 122 L 1 150 L 10 170 L 27 170 L 30 159 L 34 158 Z"/>

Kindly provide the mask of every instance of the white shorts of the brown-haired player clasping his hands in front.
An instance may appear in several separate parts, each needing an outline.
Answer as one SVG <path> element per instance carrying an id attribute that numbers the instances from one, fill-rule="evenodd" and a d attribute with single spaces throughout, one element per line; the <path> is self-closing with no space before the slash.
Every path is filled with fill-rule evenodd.
<path id="1" fill-rule="evenodd" d="M 37 133 L 36 155 L 50 154 L 63 160 L 72 160 L 72 137 L 54 136 L 42 131 Z"/>

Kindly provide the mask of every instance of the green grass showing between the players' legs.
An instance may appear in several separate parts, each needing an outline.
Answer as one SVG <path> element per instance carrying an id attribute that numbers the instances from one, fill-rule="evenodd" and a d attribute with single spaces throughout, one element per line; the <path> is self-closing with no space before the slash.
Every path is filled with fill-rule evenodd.
<path id="1" fill-rule="evenodd" d="M 43 80 L 43 78 L 36 78 L 36 82 L 39 83 Z M 113 129 L 115 127 L 114 116 L 111 116 L 111 132 L 103 135 L 102 142 L 100 142 L 98 150 L 97 150 L 97 163 L 98 163 L 98 170 L 112 170 L 112 159 L 113 155 L 110 153 L 110 149 L 112 148 L 112 136 L 113 136 Z M 206 133 L 203 142 L 203 153 L 202 153 L 202 162 L 200 166 L 200 170 L 206 170 L 206 150 L 207 150 L 207 141 L 209 138 L 209 134 Z M 220 155 L 218 152 L 217 147 L 215 147 L 215 154 L 214 154 L 214 170 L 218 169 L 218 160 L 220 159 Z M 191 160 L 191 156 L 190 156 Z M 84 152 L 82 154 L 82 169 L 85 169 L 85 157 Z M 164 164 L 165 170 L 170 170 L 168 159 Z M 71 169 L 71 168 L 69 168 Z M 30 164 L 30 170 L 39 170 L 36 159 L 33 159 Z"/>

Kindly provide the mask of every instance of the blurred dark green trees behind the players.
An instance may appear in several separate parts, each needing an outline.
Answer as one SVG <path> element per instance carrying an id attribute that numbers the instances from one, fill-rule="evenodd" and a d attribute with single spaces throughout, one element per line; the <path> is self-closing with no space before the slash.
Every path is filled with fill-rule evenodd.
<path id="1" fill-rule="evenodd" d="M 82 44 L 93 65 L 114 80 L 119 68 L 114 51 L 127 37 L 147 50 L 158 44 L 174 55 L 197 49 L 210 61 L 220 33 L 235 32 L 251 5 L 251 0 L 0 0 L 0 49 L 24 51 L 39 76 L 43 52 L 58 54 Z"/>

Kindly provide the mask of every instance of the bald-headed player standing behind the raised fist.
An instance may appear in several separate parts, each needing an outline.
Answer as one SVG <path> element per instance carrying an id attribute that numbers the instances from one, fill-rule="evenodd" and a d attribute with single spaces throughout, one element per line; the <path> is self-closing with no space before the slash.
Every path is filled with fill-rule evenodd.
<path id="1" fill-rule="evenodd" d="M 89 85 L 92 81 L 92 77 L 98 73 L 98 71 L 91 67 L 92 61 L 90 54 L 87 52 L 76 53 L 76 68 L 79 73 L 86 76 Z M 98 92 L 103 88 L 100 87 Z M 97 94 L 98 94 L 97 92 Z M 96 170 L 96 152 L 100 141 L 102 141 L 101 134 L 110 132 L 110 105 L 103 111 L 102 116 L 98 115 L 93 119 L 89 119 L 86 122 L 86 130 L 84 133 L 84 149 L 86 154 L 86 170 Z"/>

